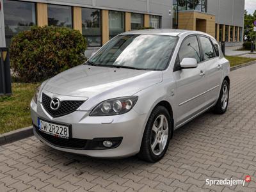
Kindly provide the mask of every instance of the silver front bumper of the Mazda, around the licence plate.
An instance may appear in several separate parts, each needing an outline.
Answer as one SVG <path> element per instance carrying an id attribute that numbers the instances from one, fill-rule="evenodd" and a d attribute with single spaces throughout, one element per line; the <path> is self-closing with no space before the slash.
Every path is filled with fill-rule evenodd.
<path id="1" fill-rule="evenodd" d="M 34 134 L 38 140 L 52 148 L 92 157 L 109 158 L 132 156 L 140 151 L 141 140 L 147 122 L 147 114 L 140 115 L 133 109 L 124 115 L 116 116 L 89 116 L 89 114 L 90 111 L 75 111 L 65 116 L 52 118 L 40 102 L 36 105 L 33 100 L 31 101 L 31 118 L 34 125 Z M 97 148 L 88 150 L 88 148 L 81 149 L 54 145 L 54 143 L 44 138 L 36 130 L 38 129 L 38 117 L 50 122 L 71 124 L 72 138 L 75 140 L 94 141 L 99 138 L 121 138 L 121 141 L 115 148 L 100 150 L 97 150 Z"/>

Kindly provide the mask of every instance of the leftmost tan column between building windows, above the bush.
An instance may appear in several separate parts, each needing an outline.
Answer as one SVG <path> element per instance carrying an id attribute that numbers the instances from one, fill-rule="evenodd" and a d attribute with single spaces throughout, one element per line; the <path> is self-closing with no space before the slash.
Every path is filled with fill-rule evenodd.
<path id="1" fill-rule="evenodd" d="M 42 27 L 48 25 L 48 12 L 46 3 L 36 3 L 36 19 L 38 26 Z"/>

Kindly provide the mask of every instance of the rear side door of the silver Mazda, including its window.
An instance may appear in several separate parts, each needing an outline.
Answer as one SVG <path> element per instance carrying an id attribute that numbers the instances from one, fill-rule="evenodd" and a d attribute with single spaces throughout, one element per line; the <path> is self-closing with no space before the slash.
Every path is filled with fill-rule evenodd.
<path id="1" fill-rule="evenodd" d="M 208 36 L 199 36 L 202 47 L 202 57 L 206 67 L 207 94 L 206 102 L 210 106 L 219 95 L 223 67 L 219 59 L 219 47 L 217 42 L 212 42 Z"/>

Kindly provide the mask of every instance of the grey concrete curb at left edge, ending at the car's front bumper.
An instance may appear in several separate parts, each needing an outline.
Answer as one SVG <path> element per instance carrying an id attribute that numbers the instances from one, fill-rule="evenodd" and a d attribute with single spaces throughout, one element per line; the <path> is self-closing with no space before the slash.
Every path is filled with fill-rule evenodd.
<path id="1" fill-rule="evenodd" d="M 12 143 L 17 140 L 33 136 L 33 126 L 17 129 L 15 131 L 5 132 L 0 134 L 0 145 Z"/>

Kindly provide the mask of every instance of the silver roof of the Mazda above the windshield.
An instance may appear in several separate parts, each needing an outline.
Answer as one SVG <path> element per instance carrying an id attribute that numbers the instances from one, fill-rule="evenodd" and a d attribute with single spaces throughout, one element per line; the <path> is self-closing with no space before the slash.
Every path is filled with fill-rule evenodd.
<path id="1" fill-rule="evenodd" d="M 190 31 L 183 29 L 143 29 L 136 31 L 127 31 L 121 35 L 168 35 L 168 36 L 187 36 L 193 34 L 201 34 L 211 36 L 201 31 Z M 212 36 L 211 36 L 212 37 Z M 213 38 L 213 37 L 212 37 Z"/>

